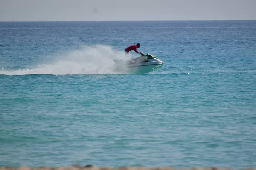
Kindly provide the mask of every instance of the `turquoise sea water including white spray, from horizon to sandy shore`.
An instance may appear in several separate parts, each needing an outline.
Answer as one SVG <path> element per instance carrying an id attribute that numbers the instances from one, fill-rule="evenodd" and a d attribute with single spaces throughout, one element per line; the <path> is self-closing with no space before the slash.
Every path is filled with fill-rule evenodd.
<path id="1" fill-rule="evenodd" d="M 111 70 L 137 42 L 163 67 Z M 0 166 L 239 169 L 255 153 L 256 21 L 0 22 Z"/>

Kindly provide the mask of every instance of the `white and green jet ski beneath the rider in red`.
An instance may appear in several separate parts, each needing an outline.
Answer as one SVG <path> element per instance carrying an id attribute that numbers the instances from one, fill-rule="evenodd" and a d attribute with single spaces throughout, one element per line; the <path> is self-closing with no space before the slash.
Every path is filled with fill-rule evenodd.
<path id="1" fill-rule="evenodd" d="M 113 59 L 115 70 L 123 73 L 143 74 L 156 71 L 164 64 L 163 61 L 151 54 L 141 54 L 140 57 L 131 60 Z"/>

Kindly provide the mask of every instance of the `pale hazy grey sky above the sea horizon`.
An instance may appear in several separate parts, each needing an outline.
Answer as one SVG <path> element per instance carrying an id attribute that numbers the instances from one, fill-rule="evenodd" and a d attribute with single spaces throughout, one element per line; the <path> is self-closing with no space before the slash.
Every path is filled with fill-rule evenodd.
<path id="1" fill-rule="evenodd" d="M 0 0 L 0 21 L 256 20 L 256 0 Z"/>

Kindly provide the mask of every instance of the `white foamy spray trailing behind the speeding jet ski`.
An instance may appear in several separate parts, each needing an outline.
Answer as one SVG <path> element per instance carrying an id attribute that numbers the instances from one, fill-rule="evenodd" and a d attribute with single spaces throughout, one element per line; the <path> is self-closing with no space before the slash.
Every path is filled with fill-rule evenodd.
<path id="1" fill-rule="evenodd" d="M 2 68 L 0 74 L 118 74 L 113 69 L 113 59 L 122 59 L 124 54 L 111 46 L 85 46 L 67 53 L 53 56 L 51 63 L 38 64 L 35 68 L 7 69 Z"/>

